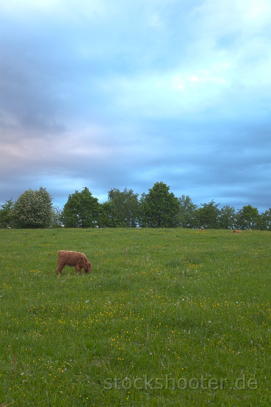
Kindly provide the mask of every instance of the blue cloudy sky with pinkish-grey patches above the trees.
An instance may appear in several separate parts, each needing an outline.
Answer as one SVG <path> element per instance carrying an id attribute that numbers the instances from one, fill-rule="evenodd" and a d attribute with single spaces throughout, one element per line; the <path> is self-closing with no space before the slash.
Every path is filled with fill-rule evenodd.
<path id="1" fill-rule="evenodd" d="M 0 0 L 0 204 L 271 207 L 270 0 Z"/>

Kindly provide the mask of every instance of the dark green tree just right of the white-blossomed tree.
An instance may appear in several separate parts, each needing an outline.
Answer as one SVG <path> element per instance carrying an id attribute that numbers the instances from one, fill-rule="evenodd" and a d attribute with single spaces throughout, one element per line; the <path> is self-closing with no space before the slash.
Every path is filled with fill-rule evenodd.
<path id="1" fill-rule="evenodd" d="M 101 204 L 88 188 L 69 195 L 63 208 L 62 223 L 65 227 L 98 226 Z"/>

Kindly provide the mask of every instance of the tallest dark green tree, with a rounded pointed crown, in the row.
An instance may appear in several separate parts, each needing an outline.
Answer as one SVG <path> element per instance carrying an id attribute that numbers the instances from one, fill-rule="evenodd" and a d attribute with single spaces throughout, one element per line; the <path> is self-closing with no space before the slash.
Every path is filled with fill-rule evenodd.
<path id="1" fill-rule="evenodd" d="M 156 182 L 140 199 L 140 225 L 146 227 L 176 227 L 179 202 L 169 187 Z"/>

